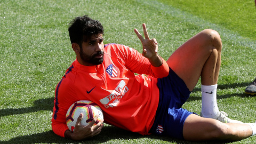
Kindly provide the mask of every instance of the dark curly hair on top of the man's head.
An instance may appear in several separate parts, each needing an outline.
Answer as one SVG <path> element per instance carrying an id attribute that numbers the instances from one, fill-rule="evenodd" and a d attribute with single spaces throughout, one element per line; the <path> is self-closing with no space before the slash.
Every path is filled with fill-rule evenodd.
<path id="1" fill-rule="evenodd" d="M 71 44 L 77 43 L 82 45 L 83 41 L 87 41 L 92 35 L 98 36 L 104 34 L 104 29 L 98 20 L 93 20 L 87 15 L 76 17 L 69 23 L 69 37 Z"/>

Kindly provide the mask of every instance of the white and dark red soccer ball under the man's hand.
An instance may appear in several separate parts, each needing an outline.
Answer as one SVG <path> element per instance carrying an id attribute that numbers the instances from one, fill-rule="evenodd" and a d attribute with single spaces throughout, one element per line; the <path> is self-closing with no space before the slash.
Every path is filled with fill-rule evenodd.
<path id="1" fill-rule="evenodd" d="M 103 119 L 102 110 L 94 102 L 89 100 L 77 101 L 69 107 L 66 114 L 66 123 L 70 131 L 74 132 L 77 118 L 81 113 L 83 113 L 81 124 L 84 126 L 91 123 L 92 119 L 97 114 L 99 114 L 99 117 L 94 125 L 98 124 Z"/>

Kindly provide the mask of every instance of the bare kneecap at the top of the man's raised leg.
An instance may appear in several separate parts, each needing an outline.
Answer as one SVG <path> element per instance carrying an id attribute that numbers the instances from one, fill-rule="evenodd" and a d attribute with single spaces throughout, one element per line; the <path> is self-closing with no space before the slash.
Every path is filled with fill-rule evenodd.
<path id="1" fill-rule="evenodd" d="M 209 45 L 213 45 L 215 49 L 217 49 L 218 51 L 221 51 L 222 43 L 221 43 L 220 35 L 217 31 L 212 29 L 204 29 L 201 32 L 204 35 L 205 41 Z"/>

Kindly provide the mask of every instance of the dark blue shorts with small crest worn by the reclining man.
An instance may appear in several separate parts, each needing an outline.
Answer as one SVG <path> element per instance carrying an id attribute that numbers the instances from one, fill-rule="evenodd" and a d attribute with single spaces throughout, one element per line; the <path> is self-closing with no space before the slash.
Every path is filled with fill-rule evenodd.
<path id="1" fill-rule="evenodd" d="M 181 108 L 187 101 L 190 91 L 183 80 L 170 68 L 169 75 L 158 78 L 159 104 L 150 133 L 183 138 L 183 125 L 186 118 L 193 114 Z"/>

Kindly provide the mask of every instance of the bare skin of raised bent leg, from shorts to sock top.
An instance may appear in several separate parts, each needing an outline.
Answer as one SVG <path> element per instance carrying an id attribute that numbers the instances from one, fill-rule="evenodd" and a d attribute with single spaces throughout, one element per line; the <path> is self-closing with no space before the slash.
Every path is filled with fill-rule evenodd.
<path id="1" fill-rule="evenodd" d="M 205 29 L 181 45 L 167 63 L 190 91 L 200 76 L 202 85 L 214 85 L 218 82 L 221 46 L 217 31 Z"/>

